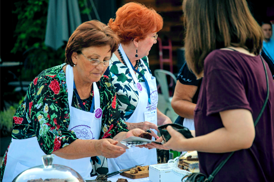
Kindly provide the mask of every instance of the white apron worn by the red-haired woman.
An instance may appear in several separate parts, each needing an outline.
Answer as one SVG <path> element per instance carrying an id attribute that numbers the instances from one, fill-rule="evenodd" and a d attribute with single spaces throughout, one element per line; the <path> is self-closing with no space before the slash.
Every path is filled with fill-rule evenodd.
<path id="1" fill-rule="evenodd" d="M 126 65 L 128 65 L 129 71 L 132 75 L 132 78 L 137 85 L 140 84 L 142 86 L 142 91 L 140 92 L 138 90 L 139 95 L 139 101 L 136 106 L 135 111 L 130 116 L 130 118 L 126 122 L 130 123 L 138 123 L 138 122 L 144 122 L 144 112 L 146 111 L 153 111 L 157 109 L 158 104 L 158 92 L 157 92 L 157 85 L 156 85 L 156 79 L 155 77 L 152 77 L 148 71 L 148 68 L 144 64 L 143 60 L 140 59 L 143 66 L 145 66 L 147 73 L 144 75 L 148 81 L 148 85 L 150 88 L 150 99 L 151 99 L 151 105 L 148 103 L 148 92 L 146 89 L 146 85 L 144 82 L 138 82 L 138 79 L 136 75 L 134 74 L 134 71 L 132 67 L 130 66 L 129 60 L 124 53 L 124 50 L 122 46 L 119 46 L 119 50 L 121 51 L 121 54 L 126 62 Z M 140 86 L 139 85 L 139 86 Z M 139 87 L 138 86 L 138 87 Z M 137 87 L 137 86 L 136 86 Z M 157 125 L 157 115 L 155 118 L 154 124 Z M 157 131 L 153 130 L 156 134 Z M 110 158 L 108 159 L 108 172 L 112 173 L 114 171 L 118 171 L 121 169 L 126 169 L 129 167 L 132 167 L 134 165 L 142 164 L 144 165 L 152 165 L 157 164 L 157 152 L 156 148 L 148 150 L 147 148 L 139 148 L 139 147 L 133 147 L 130 149 L 127 149 L 124 154 L 119 156 L 118 158 Z"/>

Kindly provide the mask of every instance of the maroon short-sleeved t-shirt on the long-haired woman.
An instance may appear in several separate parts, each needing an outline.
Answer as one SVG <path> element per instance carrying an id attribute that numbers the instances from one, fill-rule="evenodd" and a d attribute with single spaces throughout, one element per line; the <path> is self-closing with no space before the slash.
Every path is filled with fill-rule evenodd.
<path id="1" fill-rule="evenodd" d="M 266 62 L 265 65 L 269 100 L 255 127 L 253 145 L 236 151 L 213 181 L 274 181 L 274 83 Z M 260 56 L 229 50 L 212 51 L 204 62 L 204 78 L 195 109 L 196 136 L 224 127 L 220 111 L 247 109 L 255 121 L 266 95 L 266 77 Z M 198 152 L 200 171 L 209 176 L 229 154 Z"/>

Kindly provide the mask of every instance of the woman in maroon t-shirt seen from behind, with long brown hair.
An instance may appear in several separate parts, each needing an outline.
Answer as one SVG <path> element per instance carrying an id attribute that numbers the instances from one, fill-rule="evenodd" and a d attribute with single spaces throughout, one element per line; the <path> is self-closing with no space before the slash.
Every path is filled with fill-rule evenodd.
<path id="1" fill-rule="evenodd" d="M 186 139 L 169 126 L 171 139 L 153 145 L 197 150 L 206 176 L 231 156 L 213 181 L 273 181 L 274 85 L 259 55 L 260 26 L 245 0 L 184 0 L 183 10 L 186 60 L 203 77 L 194 114 L 196 137 Z"/>

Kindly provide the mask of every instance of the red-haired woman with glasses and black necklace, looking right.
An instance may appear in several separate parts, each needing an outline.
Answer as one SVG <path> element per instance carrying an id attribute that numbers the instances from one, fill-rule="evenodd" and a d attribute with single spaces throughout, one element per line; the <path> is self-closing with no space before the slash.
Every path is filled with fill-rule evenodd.
<path id="1" fill-rule="evenodd" d="M 157 42 L 157 32 L 163 27 L 163 18 L 152 8 L 139 3 L 127 3 L 110 19 L 109 27 L 120 38 L 118 50 L 112 54 L 109 77 L 117 93 L 121 118 L 128 129 L 140 128 L 157 136 L 157 125 L 172 123 L 157 109 L 156 79 L 148 65 L 148 54 Z M 109 172 L 144 163 L 157 163 L 156 149 L 130 148 L 116 159 L 108 159 Z"/>

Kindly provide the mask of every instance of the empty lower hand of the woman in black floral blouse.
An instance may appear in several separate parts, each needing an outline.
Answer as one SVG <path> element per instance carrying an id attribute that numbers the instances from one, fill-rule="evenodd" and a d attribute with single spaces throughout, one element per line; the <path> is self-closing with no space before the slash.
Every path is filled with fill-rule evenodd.
<path id="1" fill-rule="evenodd" d="M 94 148 L 101 156 L 106 158 L 116 158 L 126 152 L 126 149 L 116 146 L 117 144 L 118 141 L 110 138 L 103 138 L 96 141 Z"/>

